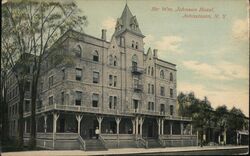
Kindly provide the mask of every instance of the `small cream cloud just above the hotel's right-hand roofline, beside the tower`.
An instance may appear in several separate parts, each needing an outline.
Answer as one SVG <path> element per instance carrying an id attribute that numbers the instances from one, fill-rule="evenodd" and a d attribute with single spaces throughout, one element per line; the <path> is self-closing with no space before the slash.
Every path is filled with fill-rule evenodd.
<path id="1" fill-rule="evenodd" d="M 182 41 L 182 37 L 179 36 L 163 36 L 160 41 L 155 42 L 155 46 L 160 51 L 180 53 L 182 51 L 179 46 Z"/>

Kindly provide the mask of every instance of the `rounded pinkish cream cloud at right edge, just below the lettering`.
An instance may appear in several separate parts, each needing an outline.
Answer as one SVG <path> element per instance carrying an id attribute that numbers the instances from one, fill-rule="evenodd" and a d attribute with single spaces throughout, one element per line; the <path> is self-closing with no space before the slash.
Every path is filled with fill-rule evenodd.
<path id="1" fill-rule="evenodd" d="M 248 33 L 248 20 L 242 20 L 238 19 L 234 21 L 233 26 L 232 26 L 232 33 L 233 33 L 233 38 L 240 40 L 240 41 L 247 41 L 249 38 L 249 33 Z"/>

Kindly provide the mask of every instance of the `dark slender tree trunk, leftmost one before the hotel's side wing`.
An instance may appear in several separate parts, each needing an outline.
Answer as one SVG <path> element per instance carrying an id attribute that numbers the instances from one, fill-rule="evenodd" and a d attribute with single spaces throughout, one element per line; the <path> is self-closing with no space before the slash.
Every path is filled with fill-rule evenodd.
<path id="1" fill-rule="evenodd" d="M 20 97 L 20 102 L 19 102 L 19 108 L 18 108 L 18 147 L 23 148 L 23 104 L 24 104 L 24 82 L 21 82 L 19 84 L 19 97 Z"/>

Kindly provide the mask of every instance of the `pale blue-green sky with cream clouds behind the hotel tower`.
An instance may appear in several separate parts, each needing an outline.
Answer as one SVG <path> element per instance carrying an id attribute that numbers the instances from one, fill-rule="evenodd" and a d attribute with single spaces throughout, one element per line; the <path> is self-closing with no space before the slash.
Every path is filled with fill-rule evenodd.
<path id="1" fill-rule="evenodd" d="M 111 39 L 126 0 L 75 0 L 87 16 L 85 33 Z M 247 0 L 127 0 L 145 52 L 177 65 L 177 92 L 249 117 L 249 4 Z"/>

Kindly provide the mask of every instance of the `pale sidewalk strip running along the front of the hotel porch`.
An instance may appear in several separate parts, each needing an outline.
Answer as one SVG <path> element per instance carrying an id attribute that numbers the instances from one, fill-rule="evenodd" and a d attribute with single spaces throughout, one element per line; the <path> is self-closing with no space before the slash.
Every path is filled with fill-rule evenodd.
<path id="1" fill-rule="evenodd" d="M 81 151 L 81 150 L 44 150 L 44 151 L 26 151 L 26 152 L 7 152 L 3 156 L 80 156 L 80 155 L 127 155 L 142 153 L 166 153 L 166 152 L 185 152 L 185 151 L 202 151 L 202 150 L 219 150 L 219 149 L 240 149 L 249 148 L 248 146 L 204 146 L 204 147 L 166 147 L 166 148 L 123 148 L 109 149 L 107 151 Z"/>

